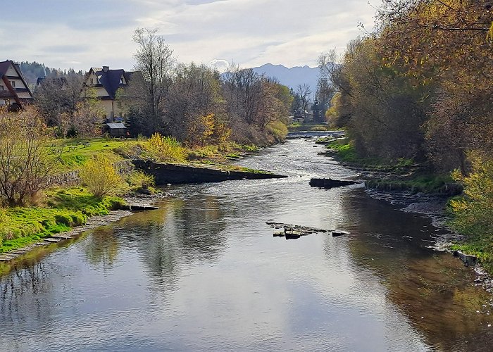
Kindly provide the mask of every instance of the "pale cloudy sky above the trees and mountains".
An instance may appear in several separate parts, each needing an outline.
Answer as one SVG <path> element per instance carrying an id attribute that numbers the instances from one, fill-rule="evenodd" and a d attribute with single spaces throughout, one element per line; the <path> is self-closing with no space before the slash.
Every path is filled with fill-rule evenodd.
<path id="1" fill-rule="evenodd" d="M 158 29 L 178 61 L 316 67 L 373 27 L 368 0 L 16 0 L 0 21 L 0 61 L 131 70 L 136 28 Z"/>

